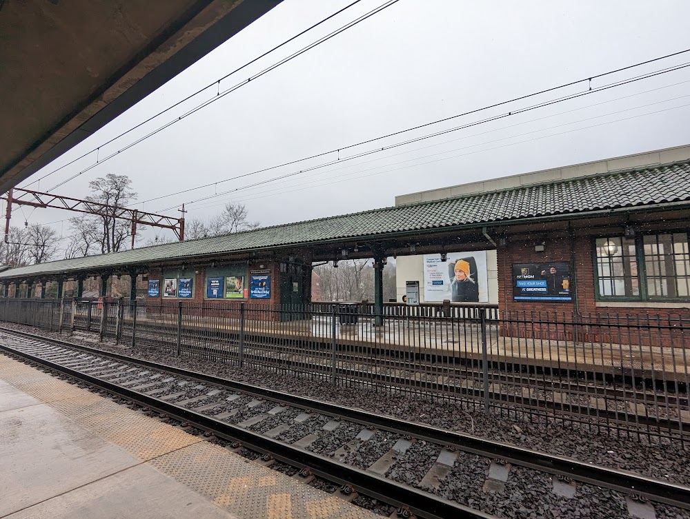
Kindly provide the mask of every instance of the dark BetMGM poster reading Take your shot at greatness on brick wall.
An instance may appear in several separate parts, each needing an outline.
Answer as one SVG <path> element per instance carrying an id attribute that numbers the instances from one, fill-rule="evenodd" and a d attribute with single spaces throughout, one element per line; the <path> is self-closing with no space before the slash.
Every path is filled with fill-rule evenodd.
<path id="1" fill-rule="evenodd" d="M 513 263 L 513 301 L 573 301 L 569 263 Z"/>

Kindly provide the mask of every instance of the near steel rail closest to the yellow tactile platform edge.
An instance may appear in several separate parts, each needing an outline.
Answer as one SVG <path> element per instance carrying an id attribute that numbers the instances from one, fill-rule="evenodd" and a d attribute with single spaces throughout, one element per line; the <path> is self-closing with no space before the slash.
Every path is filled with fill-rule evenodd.
<path id="1" fill-rule="evenodd" d="M 190 423 L 193 427 L 213 432 L 219 438 L 235 440 L 250 449 L 265 452 L 275 459 L 297 467 L 307 467 L 313 474 L 335 481 L 341 485 L 349 485 L 359 493 L 371 496 L 382 502 L 397 507 L 406 507 L 415 515 L 428 519 L 466 518 L 466 519 L 497 519 L 482 511 L 471 509 L 464 505 L 440 498 L 432 493 L 420 491 L 408 485 L 394 482 L 371 472 L 366 472 L 350 465 L 331 460 L 325 456 L 314 454 L 306 449 L 299 449 L 284 442 L 273 440 L 262 434 L 237 427 L 210 416 L 199 414 L 191 409 L 159 400 L 152 396 L 141 394 L 132 389 L 101 380 L 95 376 L 79 372 L 77 369 L 63 366 L 40 356 L 35 356 L 19 349 L 0 344 L 0 350 L 14 356 L 19 356 L 32 363 L 36 363 L 55 372 L 66 374 L 77 380 L 82 380 L 95 387 L 121 396 L 144 407 L 157 409 L 172 418 Z"/>

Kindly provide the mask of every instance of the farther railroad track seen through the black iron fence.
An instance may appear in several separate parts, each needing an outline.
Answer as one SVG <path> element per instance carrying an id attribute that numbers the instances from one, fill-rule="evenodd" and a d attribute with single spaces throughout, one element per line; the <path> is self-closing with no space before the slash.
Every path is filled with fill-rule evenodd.
<path id="1" fill-rule="evenodd" d="M 184 328 L 183 331 L 186 341 L 185 354 L 238 361 L 239 353 L 235 351 L 237 343 L 232 342 L 234 332 L 208 331 L 195 327 Z M 166 334 L 170 336 L 168 348 L 159 345 L 161 336 Z M 161 351 L 174 352 L 176 334 L 176 328 L 155 328 L 153 325 L 140 324 L 137 343 Z M 289 337 L 276 337 L 276 343 L 270 346 L 255 343 L 251 337 L 251 331 L 248 331 L 242 354 L 244 365 L 258 369 L 295 369 L 321 377 L 331 374 L 331 354 L 319 351 L 316 346 L 317 343 L 320 344 L 319 341 L 323 342 L 327 338 L 317 338 L 317 343 L 313 345 L 314 351 L 309 358 L 308 350 L 302 348 L 296 352 L 295 347 L 281 343 Z M 155 340 L 151 341 L 152 338 Z M 267 348 L 270 349 L 270 355 L 266 354 Z M 375 366 L 362 367 L 361 355 L 353 355 L 342 349 L 336 352 L 335 375 L 356 379 L 364 384 L 375 382 L 402 391 L 434 391 L 441 396 L 461 396 L 482 403 L 482 372 L 471 366 L 457 367 L 454 365 L 457 360 L 460 359 L 444 359 L 438 355 L 435 355 L 435 359 L 420 358 L 414 362 L 388 358 L 380 360 Z M 406 374 L 411 368 L 414 369 L 414 373 Z M 592 385 L 591 382 L 554 380 L 547 376 L 538 377 L 531 374 L 506 374 L 497 369 L 490 369 L 489 400 L 492 405 L 517 407 L 526 413 L 543 415 L 548 410 L 555 416 L 578 423 L 601 420 L 607 426 L 618 426 L 622 430 L 635 427 L 640 434 L 668 431 L 673 437 L 690 438 L 690 421 L 683 418 L 690 416 L 688 398 L 681 394 L 673 396 L 664 391 L 645 391 L 632 387 L 611 388 L 604 382 Z"/>

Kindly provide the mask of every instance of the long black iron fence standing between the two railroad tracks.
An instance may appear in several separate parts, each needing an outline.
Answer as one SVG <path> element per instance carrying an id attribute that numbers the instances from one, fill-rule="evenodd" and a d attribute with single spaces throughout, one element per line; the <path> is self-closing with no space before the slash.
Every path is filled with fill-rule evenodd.
<path id="1" fill-rule="evenodd" d="M 690 438 L 690 316 L 367 303 L 0 300 L 0 320 L 487 413 Z M 381 325 L 377 325 L 382 322 Z"/>

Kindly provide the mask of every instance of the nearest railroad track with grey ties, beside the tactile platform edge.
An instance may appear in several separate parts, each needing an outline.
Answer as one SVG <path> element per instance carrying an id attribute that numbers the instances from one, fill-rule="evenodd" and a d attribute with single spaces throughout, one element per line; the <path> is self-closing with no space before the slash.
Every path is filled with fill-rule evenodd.
<path id="1" fill-rule="evenodd" d="M 553 476 L 544 491 L 595 485 L 690 509 L 689 487 L 360 409 L 13 330 L 1 329 L 0 349 L 424 518 L 491 517 L 434 493 L 468 455 L 488 469 L 484 489 L 500 489 L 515 471 L 538 471 Z M 393 480 L 397 460 L 422 445 L 434 456 L 421 488 Z"/>

